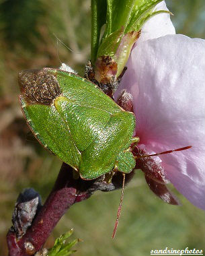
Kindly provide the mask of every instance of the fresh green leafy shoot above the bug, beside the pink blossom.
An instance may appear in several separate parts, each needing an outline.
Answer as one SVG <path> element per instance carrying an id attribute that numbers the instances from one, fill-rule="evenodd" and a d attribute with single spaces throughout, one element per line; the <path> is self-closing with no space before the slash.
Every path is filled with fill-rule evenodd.
<path id="1" fill-rule="evenodd" d="M 124 69 L 134 40 L 137 39 L 128 33 L 139 32 L 153 15 L 169 13 L 163 10 L 153 12 L 155 5 L 161 1 L 92 0 L 91 63 L 95 65 L 96 58 L 100 56 L 114 57 L 118 64 L 118 77 Z M 101 28 L 104 24 L 106 28 L 100 41 Z"/>

